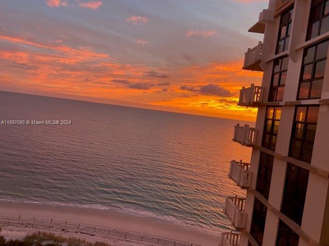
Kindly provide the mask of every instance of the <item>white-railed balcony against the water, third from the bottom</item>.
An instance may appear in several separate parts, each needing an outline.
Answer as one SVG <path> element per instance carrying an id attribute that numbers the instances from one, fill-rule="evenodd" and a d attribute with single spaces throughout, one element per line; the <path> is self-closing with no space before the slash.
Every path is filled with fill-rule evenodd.
<path id="1" fill-rule="evenodd" d="M 251 185 L 252 172 L 249 171 L 250 164 L 242 162 L 242 160 L 231 161 L 230 172 L 228 177 L 232 179 L 236 185 L 242 189 L 247 189 Z"/>

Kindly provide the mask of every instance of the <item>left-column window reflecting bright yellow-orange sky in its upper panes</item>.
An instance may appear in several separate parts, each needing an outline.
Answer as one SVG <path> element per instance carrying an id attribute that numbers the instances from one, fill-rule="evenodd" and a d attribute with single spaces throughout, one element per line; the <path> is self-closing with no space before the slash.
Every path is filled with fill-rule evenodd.
<path id="1" fill-rule="evenodd" d="M 271 150 L 276 149 L 279 131 L 281 107 L 267 108 L 262 146 Z"/>

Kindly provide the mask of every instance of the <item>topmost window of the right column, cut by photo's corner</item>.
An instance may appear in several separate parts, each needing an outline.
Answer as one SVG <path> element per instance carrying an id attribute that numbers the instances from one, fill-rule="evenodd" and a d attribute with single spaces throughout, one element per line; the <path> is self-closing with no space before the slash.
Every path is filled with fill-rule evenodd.
<path id="1" fill-rule="evenodd" d="M 329 31 L 329 1 L 313 0 L 309 11 L 306 41 Z"/>

